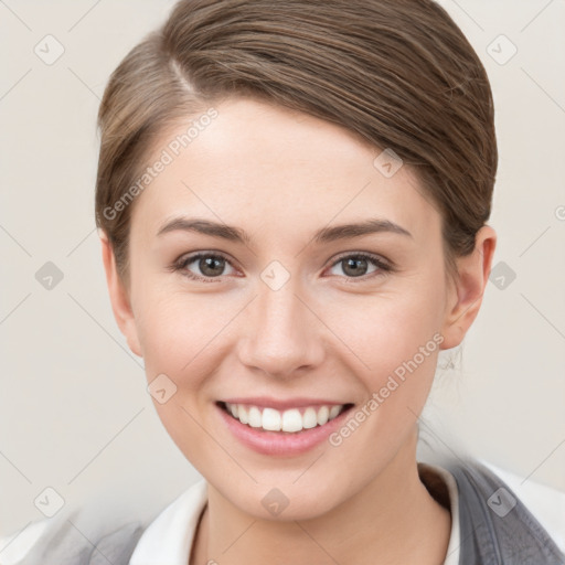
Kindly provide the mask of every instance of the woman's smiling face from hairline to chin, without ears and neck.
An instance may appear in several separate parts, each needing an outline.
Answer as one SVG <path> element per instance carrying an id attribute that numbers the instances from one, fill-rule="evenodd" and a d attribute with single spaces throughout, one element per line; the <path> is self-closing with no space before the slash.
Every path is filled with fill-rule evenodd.
<path id="1" fill-rule="evenodd" d="M 413 445 L 457 339 L 440 216 L 407 167 L 391 175 L 334 125 L 246 99 L 215 109 L 178 156 L 186 124 L 156 145 L 153 161 L 173 159 L 135 202 L 120 327 L 164 390 L 168 433 L 225 499 L 265 516 L 277 488 L 285 520 L 315 516 Z"/>

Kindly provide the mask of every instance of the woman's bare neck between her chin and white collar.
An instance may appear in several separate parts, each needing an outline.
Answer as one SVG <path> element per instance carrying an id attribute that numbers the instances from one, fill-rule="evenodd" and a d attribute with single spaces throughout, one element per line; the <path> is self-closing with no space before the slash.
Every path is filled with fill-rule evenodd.
<path id="1" fill-rule="evenodd" d="M 344 503 L 308 520 L 248 515 L 209 484 L 190 565 L 443 563 L 451 518 L 419 479 L 416 440 Z"/>

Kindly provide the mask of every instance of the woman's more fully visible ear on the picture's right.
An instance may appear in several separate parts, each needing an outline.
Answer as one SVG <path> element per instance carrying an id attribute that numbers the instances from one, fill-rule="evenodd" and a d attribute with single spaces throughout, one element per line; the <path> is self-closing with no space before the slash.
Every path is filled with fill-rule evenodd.
<path id="1" fill-rule="evenodd" d="M 477 318 L 489 280 L 495 246 L 497 233 L 486 225 L 477 232 L 473 252 L 456 259 L 458 277 L 451 282 L 449 290 L 441 331 L 441 349 L 459 345 Z"/>

